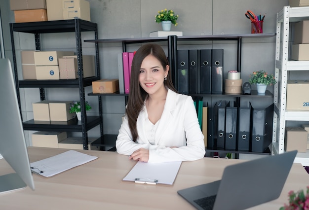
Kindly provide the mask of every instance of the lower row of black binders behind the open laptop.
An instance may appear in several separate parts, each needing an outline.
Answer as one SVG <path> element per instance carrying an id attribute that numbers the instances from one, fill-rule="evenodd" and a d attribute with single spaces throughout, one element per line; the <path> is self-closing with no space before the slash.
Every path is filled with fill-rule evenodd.
<path id="1" fill-rule="evenodd" d="M 203 115 L 205 116 L 205 115 Z M 271 143 L 273 104 L 266 108 L 239 107 L 236 102 L 220 101 L 207 107 L 208 149 L 265 152 Z M 205 128 L 203 125 L 202 128 Z"/>

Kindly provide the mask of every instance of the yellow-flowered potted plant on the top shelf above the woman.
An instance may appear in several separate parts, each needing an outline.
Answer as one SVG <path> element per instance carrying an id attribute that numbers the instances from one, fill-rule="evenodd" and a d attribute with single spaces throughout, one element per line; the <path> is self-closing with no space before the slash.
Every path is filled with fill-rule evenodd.
<path id="1" fill-rule="evenodd" d="M 162 9 L 161 11 L 158 11 L 158 14 L 154 16 L 155 17 L 155 22 L 156 23 L 161 23 L 163 31 L 169 31 L 171 24 L 174 24 L 175 26 L 178 25 L 176 22 L 178 19 L 178 15 L 174 13 L 173 10 L 167 10 L 167 9 Z M 169 28 L 165 28 L 164 26 L 168 26 Z"/>

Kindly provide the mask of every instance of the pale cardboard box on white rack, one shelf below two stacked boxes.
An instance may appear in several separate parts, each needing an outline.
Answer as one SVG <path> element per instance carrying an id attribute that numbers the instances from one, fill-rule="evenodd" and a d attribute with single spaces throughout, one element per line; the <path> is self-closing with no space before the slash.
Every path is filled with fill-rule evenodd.
<path id="1" fill-rule="evenodd" d="M 286 110 L 309 110 L 309 80 L 287 80 Z"/>

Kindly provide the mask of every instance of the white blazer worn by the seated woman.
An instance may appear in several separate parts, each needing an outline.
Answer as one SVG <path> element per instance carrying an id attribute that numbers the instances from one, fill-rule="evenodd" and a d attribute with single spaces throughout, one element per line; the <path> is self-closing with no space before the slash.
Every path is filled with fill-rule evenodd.
<path id="1" fill-rule="evenodd" d="M 191 96 L 168 90 L 154 145 L 145 131 L 146 106 L 137 118 L 138 139 L 132 140 L 127 117 L 119 129 L 116 148 L 119 154 L 131 155 L 139 148 L 149 149 L 148 162 L 193 161 L 205 155 L 204 136 L 200 130 Z M 176 146 L 177 148 L 170 148 Z"/>

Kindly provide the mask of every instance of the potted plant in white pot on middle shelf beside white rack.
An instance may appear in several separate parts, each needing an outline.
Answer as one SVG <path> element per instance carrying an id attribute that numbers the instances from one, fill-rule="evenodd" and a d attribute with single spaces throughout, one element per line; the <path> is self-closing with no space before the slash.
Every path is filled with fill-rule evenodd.
<path id="1" fill-rule="evenodd" d="M 249 83 L 257 85 L 258 93 L 265 93 L 267 85 L 273 85 L 276 82 L 273 74 L 264 70 L 253 71 L 249 76 Z"/>

